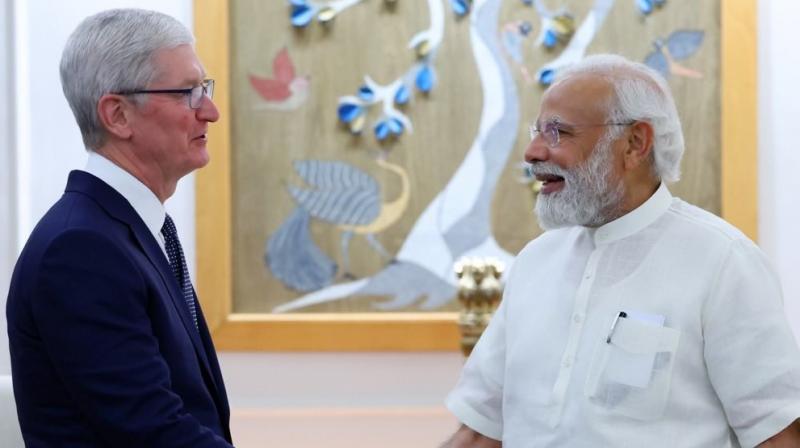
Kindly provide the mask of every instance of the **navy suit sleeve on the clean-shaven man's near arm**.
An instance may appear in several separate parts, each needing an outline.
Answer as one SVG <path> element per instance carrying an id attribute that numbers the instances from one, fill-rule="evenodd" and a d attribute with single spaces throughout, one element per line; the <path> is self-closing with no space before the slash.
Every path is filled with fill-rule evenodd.
<path id="1" fill-rule="evenodd" d="M 87 230 L 45 250 L 31 305 L 48 355 L 75 403 L 109 445 L 230 447 L 184 410 L 170 387 L 132 260 Z"/>

